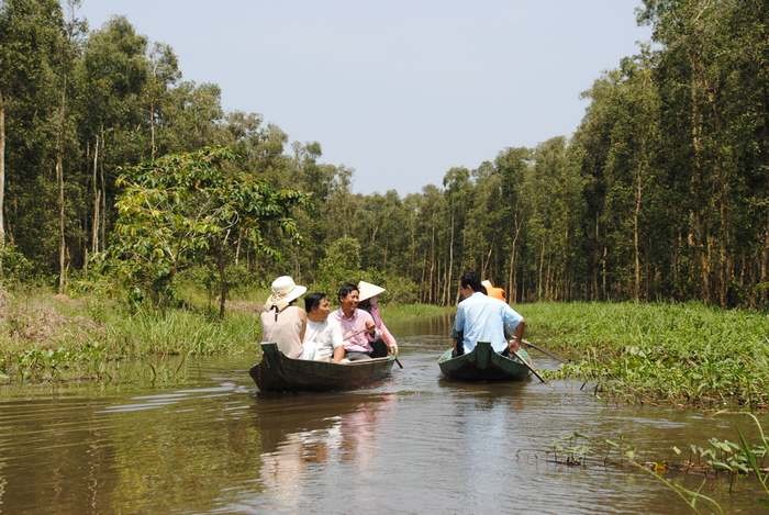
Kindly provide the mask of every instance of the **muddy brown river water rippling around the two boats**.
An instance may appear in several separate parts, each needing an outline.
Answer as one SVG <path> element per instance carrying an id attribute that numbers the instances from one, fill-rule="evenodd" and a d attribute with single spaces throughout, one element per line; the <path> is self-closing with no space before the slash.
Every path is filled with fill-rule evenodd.
<path id="1" fill-rule="evenodd" d="M 188 360 L 172 388 L 0 390 L 0 513 L 689 513 L 644 472 L 558 464 L 548 449 L 579 432 L 672 457 L 750 430 L 608 404 L 572 381 L 445 381 L 446 321 L 392 328 L 404 369 L 354 392 L 264 396 L 248 359 Z M 703 489 L 727 513 L 759 513 L 756 492 Z"/>

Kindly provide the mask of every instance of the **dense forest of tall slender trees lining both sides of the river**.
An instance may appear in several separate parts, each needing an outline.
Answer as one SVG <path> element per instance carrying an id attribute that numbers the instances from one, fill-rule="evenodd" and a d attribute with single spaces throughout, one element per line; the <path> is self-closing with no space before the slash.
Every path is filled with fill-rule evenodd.
<path id="1" fill-rule="evenodd" d="M 220 88 L 185 80 L 170 46 L 124 18 L 89 30 L 78 3 L 0 2 L 3 281 L 67 291 L 104 270 L 135 234 L 119 209 L 136 184 L 126 170 L 155 183 L 148 170 L 215 155 L 269 184 L 253 202 L 269 191 L 280 208 L 258 233 L 256 219 L 227 226 L 211 261 L 221 280 L 229 267 L 230 281 L 322 284 L 347 267 L 400 300 L 450 304 L 461 271 L 477 269 L 513 302 L 769 303 L 765 1 L 643 1 L 653 41 L 582 93 L 570 137 L 511 142 L 404 197 L 353 193 L 353 170 L 323 163 L 321 144 L 224 112 Z"/>

